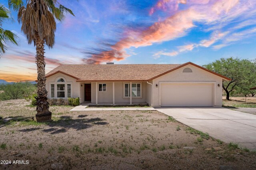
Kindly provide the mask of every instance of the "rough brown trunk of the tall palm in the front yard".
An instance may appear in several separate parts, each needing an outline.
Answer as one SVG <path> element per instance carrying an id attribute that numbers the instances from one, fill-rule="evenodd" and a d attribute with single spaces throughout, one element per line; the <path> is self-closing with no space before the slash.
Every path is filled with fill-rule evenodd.
<path id="1" fill-rule="evenodd" d="M 45 62 L 44 62 L 44 40 L 36 35 L 36 66 L 37 66 L 37 97 L 36 97 L 36 121 L 50 121 L 52 112 L 49 111 L 47 102 Z"/>

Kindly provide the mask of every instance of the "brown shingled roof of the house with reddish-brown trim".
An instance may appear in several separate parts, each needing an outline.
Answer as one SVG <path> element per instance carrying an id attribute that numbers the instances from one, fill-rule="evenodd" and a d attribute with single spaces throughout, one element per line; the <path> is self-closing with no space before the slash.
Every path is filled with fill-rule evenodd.
<path id="1" fill-rule="evenodd" d="M 147 81 L 176 70 L 187 64 L 65 64 L 54 68 L 46 74 L 52 76 L 58 72 L 76 78 L 77 82 L 84 81 Z M 220 74 L 202 68 L 208 72 L 226 78 Z"/>

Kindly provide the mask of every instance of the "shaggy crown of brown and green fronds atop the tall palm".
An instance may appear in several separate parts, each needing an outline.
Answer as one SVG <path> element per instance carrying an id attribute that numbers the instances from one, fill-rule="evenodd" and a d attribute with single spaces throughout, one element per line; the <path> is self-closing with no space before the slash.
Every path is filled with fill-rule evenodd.
<path id="1" fill-rule="evenodd" d="M 21 30 L 29 44 L 35 44 L 36 35 L 39 35 L 49 48 L 53 47 L 56 20 L 63 21 L 68 13 L 74 16 L 72 10 L 59 4 L 57 0 L 26 0 L 26 4 L 22 0 L 8 2 L 9 6 L 18 11 L 18 22 L 22 23 Z"/>

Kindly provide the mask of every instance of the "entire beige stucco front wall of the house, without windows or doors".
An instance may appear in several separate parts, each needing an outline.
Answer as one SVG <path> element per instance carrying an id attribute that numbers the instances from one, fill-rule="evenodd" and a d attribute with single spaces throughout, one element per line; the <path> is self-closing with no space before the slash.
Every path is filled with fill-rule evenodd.
<path id="1" fill-rule="evenodd" d="M 192 72 L 182 72 L 184 68 L 189 67 L 192 69 Z M 67 76 L 62 73 L 54 74 L 48 78 L 46 78 L 46 90 L 48 91 L 48 98 L 50 99 L 50 84 L 57 84 L 58 78 L 64 78 L 65 83 L 71 84 L 71 97 L 72 98 L 80 98 L 80 103 L 84 102 L 84 84 L 91 84 L 91 100 L 92 103 L 96 102 L 96 82 L 76 82 L 75 78 Z M 222 106 L 222 78 L 202 70 L 193 65 L 186 65 L 182 68 L 174 70 L 168 74 L 164 74 L 154 80 L 149 81 L 153 85 L 153 94 L 152 94 L 152 86 L 147 82 L 132 82 L 132 83 L 141 83 L 142 93 L 141 97 L 132 98 L 132 103 L 143 103 L 146 102 L 151 106 L 152 96 L 153 96 L 153 107 L 160 106 L 160 86 L 163 82 L 214 82 L 212 84 L 213 90 L 213 99 L 214 106 Z M 98 83 L 106 83 L 106 92 L 98 92 L 98 103 L 113 103 L 113 83 L 112 82 L 98 82 Z M 124 83 L 130 82 L 115 82 L 115 103 L 130 103 L 130 97 L 124 97 Z M 156 87 L 158 84 L 158 87 Z M 220 87 L 218 87 L 220 84 Z M 82 86 L 81 86 L 82 85 Z M 55 86 L 56 88 L 56 86 Z M 98 87 L 97 87 L 98 90 Z M 56 89 L 55 89 L 56 91 Z M 56 95 L 55 95 L 56 97 Z M 66 98 L 64 98 L 66 99 Z"/>

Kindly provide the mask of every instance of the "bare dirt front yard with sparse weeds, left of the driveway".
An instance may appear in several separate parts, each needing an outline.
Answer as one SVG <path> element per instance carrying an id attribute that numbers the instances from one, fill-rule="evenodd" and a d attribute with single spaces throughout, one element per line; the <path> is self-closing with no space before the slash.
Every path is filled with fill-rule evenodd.
<path id="1" fill-rule="evenodd" d="M 37 123 L 29 104 L 0 102 L 0 117 L 13 118 L 0 120 L 0 161 L 12 163 L 0 169 L 256 169 L 256 152 L 158 111 L 76 112 L 53 106 L 52 121 Z"/>

